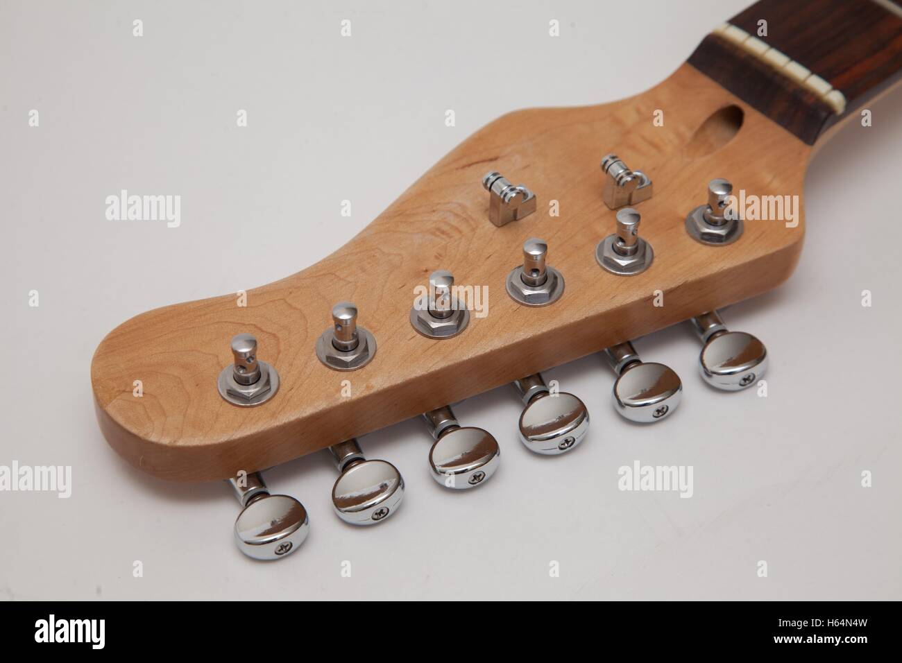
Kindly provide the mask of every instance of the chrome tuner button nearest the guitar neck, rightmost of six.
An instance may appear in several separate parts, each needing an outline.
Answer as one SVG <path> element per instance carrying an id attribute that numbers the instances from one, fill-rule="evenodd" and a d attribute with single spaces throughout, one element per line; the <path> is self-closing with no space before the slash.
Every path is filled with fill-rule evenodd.
<path id="1" fill-rule="evenodd" d="M 768 369 L 768 350 L 758 338 L 727 331 L 717 311 L 692 318 L 704 347 L 698 356 L 704 382 L 724 391 L 740 391 L 759 381 Z"/>

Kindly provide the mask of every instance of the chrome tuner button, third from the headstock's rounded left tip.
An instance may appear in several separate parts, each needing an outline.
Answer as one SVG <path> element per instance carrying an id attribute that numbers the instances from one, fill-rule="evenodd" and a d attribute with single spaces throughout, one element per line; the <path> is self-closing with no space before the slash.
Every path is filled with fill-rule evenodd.
<path id="1" fill-rule="evenodd" d="M 491 433 L 462 427 L 447 405 L 424 413 L 423 420 L 436 440 L 429 450 L 429 467 L 438 483 L 465 491 L 482 485 L 495 474 L 502 451 Z"/>

